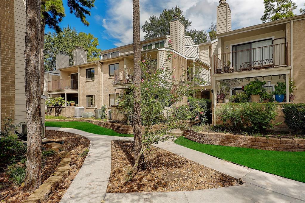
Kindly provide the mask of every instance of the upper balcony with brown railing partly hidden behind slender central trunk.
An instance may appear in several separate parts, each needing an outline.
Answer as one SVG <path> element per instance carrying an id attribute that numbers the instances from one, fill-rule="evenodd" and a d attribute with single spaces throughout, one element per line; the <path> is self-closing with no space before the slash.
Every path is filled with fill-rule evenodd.
<path id="1" fill-rule="evenodd" d="M 152 73 L 156 70 L 156 67 L 149 66 L 149 73 Z M 133 82 L 134 77 L 134 68 L 123 68 L 114 71 L 114 85 L 125 85 Z"/>

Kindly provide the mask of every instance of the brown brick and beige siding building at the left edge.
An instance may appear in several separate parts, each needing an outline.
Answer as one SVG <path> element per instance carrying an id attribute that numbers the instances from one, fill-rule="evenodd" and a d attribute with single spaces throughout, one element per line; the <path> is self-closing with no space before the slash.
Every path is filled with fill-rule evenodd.
<path id="1" fill-rule="evenodd" d="M 0 0 L 0 129 L 5 117 L 26 123 L 24 47 L 26 30 L 24 0 Z M 41 103 L 45 97 L 41 96 Z M 44 123 L 44 105 L 41 108 Z M 18 130 L 20 130 L 19 128 Z"/>

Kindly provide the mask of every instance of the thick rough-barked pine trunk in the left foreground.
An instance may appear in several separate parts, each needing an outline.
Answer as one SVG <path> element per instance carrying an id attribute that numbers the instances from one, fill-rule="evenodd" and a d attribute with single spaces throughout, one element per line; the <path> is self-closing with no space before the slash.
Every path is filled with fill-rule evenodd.
<path id="1" fill-rule="evenodd" d="M 24 191 L 32 192 L 41 185 L 41 105 L 40 105 L 40 39 L 41 1 L 26 1 L 25 95 L 27 110 L 27 166 Z"/>

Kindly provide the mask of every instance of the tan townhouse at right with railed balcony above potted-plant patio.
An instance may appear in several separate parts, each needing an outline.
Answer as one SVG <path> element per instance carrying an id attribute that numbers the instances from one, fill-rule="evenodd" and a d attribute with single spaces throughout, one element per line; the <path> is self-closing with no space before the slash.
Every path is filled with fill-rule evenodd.
<path id="1" fill-rule="evenodd" d="M 231 30 L 231 9 L 226 0 L 217 6 L 217 39 L 212 47 L 213 108 L 217 106 L 220 82 L 235 83 L 230 95 L 254 79 L 268 81 L 271 93 L 276 82 L 295 82 L 294 103 L 305 102 L 305 15 Z M 214 114 L 213 119 L 216 120 Z M 279 121 L 283 121 L 279 120 Z"/>

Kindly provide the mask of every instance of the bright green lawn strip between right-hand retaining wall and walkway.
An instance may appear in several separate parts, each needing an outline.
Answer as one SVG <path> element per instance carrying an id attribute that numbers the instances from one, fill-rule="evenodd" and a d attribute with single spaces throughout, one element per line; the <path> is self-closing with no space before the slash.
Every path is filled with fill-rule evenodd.
<path id="1" fill-rule="evenodd" d="M 305 182 L 305 152 L 279 152 L 206 145 L 182 136 L 177 138 L 175 143 L 249 168 Z"/>

